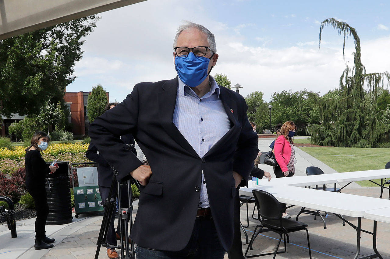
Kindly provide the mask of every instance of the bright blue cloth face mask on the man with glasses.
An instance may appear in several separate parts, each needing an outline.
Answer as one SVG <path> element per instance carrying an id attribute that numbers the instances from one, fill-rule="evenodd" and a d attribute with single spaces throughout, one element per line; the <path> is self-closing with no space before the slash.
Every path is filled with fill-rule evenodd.
<path id="1" fill-rule="evenodd" d="M 199 86 L 209 74 L 209 62 L 209 58 L 197 57 L 190 52 L 186 57 L 175 58 L 176 72 L 187 86 Z"/>

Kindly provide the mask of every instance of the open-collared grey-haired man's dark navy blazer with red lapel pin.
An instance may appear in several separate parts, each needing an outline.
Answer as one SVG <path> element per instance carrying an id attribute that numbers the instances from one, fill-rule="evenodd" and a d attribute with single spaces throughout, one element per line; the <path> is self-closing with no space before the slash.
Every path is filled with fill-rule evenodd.
<path id="1" fill-rule="evenodd" d="M 236 194 L 232 171 L 248 179 L 259 152 L 258 137 L 246 116 L 245 99 L 220 86 L 220 98 L 232 127 L 200 158 L 172 122 L 177 86 L 177 77 L 136 84 L 122 103 L 94 120 L 89 136 L 119 179 L 127 179 L 142 163 L 115 136 L 132 133 L 151 166 L 152 176 L 142 189 L 130 235 L 137 245 L 168 251 L 187 245 L 203 172 L 218 237 L 229 250 Z"/>

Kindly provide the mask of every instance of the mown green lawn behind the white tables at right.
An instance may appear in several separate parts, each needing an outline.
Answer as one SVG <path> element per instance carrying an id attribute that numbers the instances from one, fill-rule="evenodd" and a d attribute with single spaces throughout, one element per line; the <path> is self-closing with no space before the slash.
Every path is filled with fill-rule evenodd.
<path id="1" fill-rule="evenodd" d="M 298 140 L 295 142 L 298 143 Z M 300 147 L 300 149 L 340 173 L 383 169 L 390 161 L 390 149 L 352 147 Z M 380 179 L 375 180 L 379 183 L 380 181 Z M 369 181 L 357 183 L 361 186 L 377 186 Z"/>

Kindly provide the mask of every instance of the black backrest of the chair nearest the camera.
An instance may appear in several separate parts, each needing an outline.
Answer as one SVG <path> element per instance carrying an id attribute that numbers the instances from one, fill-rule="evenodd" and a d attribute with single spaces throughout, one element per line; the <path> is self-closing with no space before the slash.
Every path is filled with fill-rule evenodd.
<path id="1" fill-rule="evenodd" d="M 270 193 L 262 190 L 253 190 L 257 212 L 262 219 L 277 220 L 282 219 L 282 207 L 279 201 Z"/>

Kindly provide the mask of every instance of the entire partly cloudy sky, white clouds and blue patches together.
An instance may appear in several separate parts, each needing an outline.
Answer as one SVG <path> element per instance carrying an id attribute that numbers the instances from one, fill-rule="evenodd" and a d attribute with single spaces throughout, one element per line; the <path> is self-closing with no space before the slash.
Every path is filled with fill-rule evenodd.
<path id="1" fill-rule="evenodd" d="M 172 43 L 189 20 L 215 34 L 219 59 L 211 75 L 226 74 L 243 96 L 262 91 L 269 101 L 274 92 L 305 88 L 324 94 L 338 86 L 354 44 L 347 40 L 344 60 L 342 37 L 327 27 L 319 49 L 321 21 L 355 27 L 367 73 L 390 72 L 389 13 L 387 0 L 147 0 L 99 14 L 67 91 L 102 84 L 110 101 L 122 101 L 138 82 L 176 77 Z"/>

